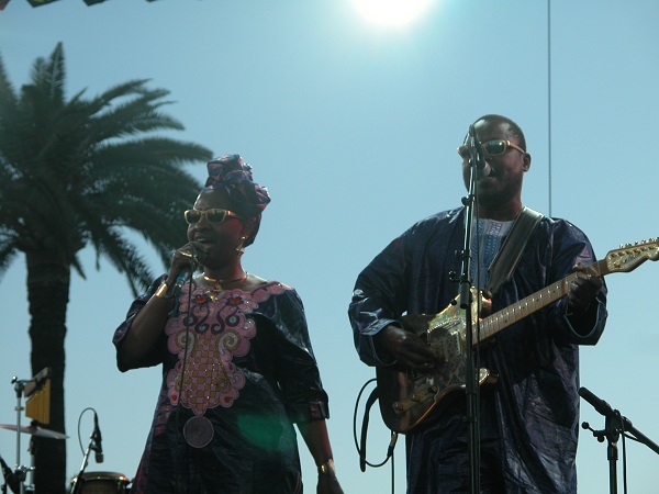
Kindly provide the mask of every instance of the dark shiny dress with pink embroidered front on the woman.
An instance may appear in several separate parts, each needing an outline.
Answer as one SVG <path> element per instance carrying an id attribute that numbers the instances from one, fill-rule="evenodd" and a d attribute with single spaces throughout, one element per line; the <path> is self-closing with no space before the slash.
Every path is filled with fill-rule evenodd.
<path id="1" fill-rule="evenodd" d="M 133 302 L 115 346 L 160 281 Z M 156 364 L 163 385 L 131 494 L 302 492 L 293 423 L 328 413 L 292 288 L 214 295 L 187 282 L 136 367 Z"/>

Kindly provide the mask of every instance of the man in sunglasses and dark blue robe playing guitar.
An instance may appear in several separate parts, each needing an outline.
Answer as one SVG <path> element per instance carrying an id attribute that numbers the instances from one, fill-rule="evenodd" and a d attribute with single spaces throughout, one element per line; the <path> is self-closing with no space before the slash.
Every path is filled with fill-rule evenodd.
<path id="1" fill-rule="evenodd" d="M 478 179 L 471 244 L 470 280 L 483 289 L 488 267 L 524 209 L 522 183 L 530 155 L 522 130 L 505 116 L 484 115 L 473 130 L 489 168 Z M 461 146 L 458 151 L 468 187 L 470 149 Z M 463 250 L 466 220 L 460 206 L 416 223 L 359 274 L 348 314 L 365 363 L 414 371 L 407 374 L 413 377 L 432 374 L 442 366 L 428 345 L 403 328 L 400 317 L 437 314 L 449 306 L 459 290 L 455 273 L 461 272 L 457 252 Z M 512 277 L 493 294 L 492 312 L 579 273 L 567 296 L 523 316 L 480 346 L 479 367 L 498 381 L 477 390 L 478 461 L 470 460 L 462 391 L 451 393 L 438 412 L 406 431 L 409 494 L 471 492 L 474 463 L 484 493 L 577 491 L 578 346 L 594 345 L 606 319 L 606 287 L 585 270 L 594 261 L 579 228 L 541 217 Z"/>

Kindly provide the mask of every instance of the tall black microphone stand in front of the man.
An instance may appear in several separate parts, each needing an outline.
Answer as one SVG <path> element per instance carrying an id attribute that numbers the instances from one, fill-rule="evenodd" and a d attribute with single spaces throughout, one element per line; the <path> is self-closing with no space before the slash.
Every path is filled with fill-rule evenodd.
<path id="1" fill-rule="evenodd" d="M 465 225 L 465 244 L 461 254 L 461 273 L 460 273 L 460 308 L 466 310 L 466 366 L 465 366 L 465 393 L 467 396 L 467 414 L 466 422 L 469 427 L 469 474 L 471 493 L 480 493 L 480 435 L 479 435 L 479 400 L 477 370 L 473 360 L 473 333 L 471 319 L 471 306 L 476 301 L 471 293 L 471 227 L 473 224 L 473 201 L 476 198 L 476 178 L 478 166 L 478 150 L 476 146 L 476 132 L 473 125 L 469 126 L 468 137 L 471 168 L 469 179 L 469 195 L 462 199 L 462 204 L 466 206 L 466 225 Z"/>

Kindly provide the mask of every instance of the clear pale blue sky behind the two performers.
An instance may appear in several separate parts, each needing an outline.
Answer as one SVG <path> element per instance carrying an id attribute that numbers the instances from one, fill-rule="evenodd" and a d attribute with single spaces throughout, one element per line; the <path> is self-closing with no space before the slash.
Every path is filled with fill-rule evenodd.
<path id="1" fill-rule="evenodd" d="M 347 318 L 359 271 L 412 223 L 465 195 L 456 147 L 471 122 L 501 113 L 533 156 L 523 201 L 583 229 L 600 258 L 659 236 L 651 147 L 659 98 L 655 0 L 429 0 L 406 25 L 376 22 L 354 0 L 62 0 L 0 11 L 0 56 L 15 88 L 37 57 L 64 44 L 67 93 L 96 96 L 131 79 L 170 91 L 170 136 L 241 154 L 272 202 L 244 267 L 294 287 L 304 301 L 323 383 L 338 478 L 348 493 L 404 493 L 404 445 L 394 465 L 359 469 L 360 390 L 375 377 Z M 550 8 L 548 8 L 550 7 Z M 402 19 L 399 14 L 395 18 Z M 646 146 L 647 139 L 650 143 Z M 650 156 L 652 155 L 652 156 Z M 188 170 L 205 178 L 205 164 Z M 1 207 L 1 205 L 0 205 Z M 177 227 L 185 228 L 181 224 Z M 154 272 L 164 271 L 144 246 Z M 127 282 L 94 252 L 71 278 L 66 338 L 67 475 L 80 469 L 98 413 L 104 462 L 87 472 L 133 478 L 159 389 L 159 369 L 120 373 L 111 338 L 132 301 Z M 608 321 L 581 349 L 581 385 L 659 442 L 652 314 L 659 265 L 612 273 Z M 12 377 L 30 379 L 25 262 L 0 278 L 0 424 L 16 423 Z M 372 383 L 362 396 L 368 395 Z M 357 408 L 357 412 L 355 412 Z M 581 402 L 581 419 L 604 417 Z M 22 418 L 25 423 L 25 417 Z M 359 434 L 359 430 L 358 430 Z M 15 433 L 0 429 L 13 465 Z M 21 463 L 29 463 L 23 435 Z M 370 413 L 367 460 L 384 459 L 389 431 Z M 81 447 L 80 447 L 81 445 Z M 656 492 L 657 453 L 618 441 L 618 489 Z M 300 440 L 303 480 L 315 467 Z M 625 461 L 623 461 L 625 460 Z M 608 491 L 605 442 L 581 430 L 581 493 Z"/>

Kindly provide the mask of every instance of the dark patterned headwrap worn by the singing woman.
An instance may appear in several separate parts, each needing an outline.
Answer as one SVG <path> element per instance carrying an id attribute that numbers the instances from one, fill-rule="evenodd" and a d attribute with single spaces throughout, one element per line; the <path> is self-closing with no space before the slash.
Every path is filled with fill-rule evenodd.
<path id="1" fill-rule="evenodd" d="M 252 178 L 252 167 L 239 155 L 222 155 L 206 165 L 209 178 L 203 190 L 222 190 L 236 203 L 236 214 L 245 218 L 254 218 L 252 235 L 245 239 L 245 247 L 250 245 L 258 233 L 261 212 L 270 202 L 265 187 Z"/>

